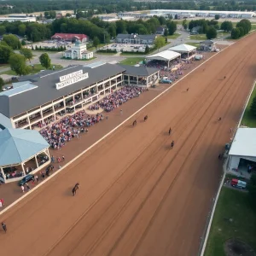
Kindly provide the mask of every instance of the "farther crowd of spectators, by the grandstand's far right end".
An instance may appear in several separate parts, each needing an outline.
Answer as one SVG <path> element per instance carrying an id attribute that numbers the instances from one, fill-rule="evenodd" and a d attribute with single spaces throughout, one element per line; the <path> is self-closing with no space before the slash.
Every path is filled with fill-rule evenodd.
<path id="1" fill-rule="evenodd" d="M 100 102 L 90 106 L 90 110 L 103 108 L 106 112 L 112 111 L 114 108 L 119 108 L 123 103 L 139 96 L 143 91 L 147 90 L 145 87 L 137 87 L 126 85 L 120 90 L 114 91 L 112 94 L 105 96 Z"/>

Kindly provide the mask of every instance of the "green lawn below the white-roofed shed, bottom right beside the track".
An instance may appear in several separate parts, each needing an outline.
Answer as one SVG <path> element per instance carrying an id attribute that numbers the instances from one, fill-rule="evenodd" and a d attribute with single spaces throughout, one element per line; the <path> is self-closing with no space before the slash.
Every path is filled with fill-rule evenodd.
<path id="1" fill-rule="evenodd" d="M 227 219 L 232 218 L 232 222 Z M 204 256 L 226 256 L 224 241 L 237 238 L 256 252 L 256 212 L 250 207 L 247 193 L 223 188 L 214 213 Z"/>

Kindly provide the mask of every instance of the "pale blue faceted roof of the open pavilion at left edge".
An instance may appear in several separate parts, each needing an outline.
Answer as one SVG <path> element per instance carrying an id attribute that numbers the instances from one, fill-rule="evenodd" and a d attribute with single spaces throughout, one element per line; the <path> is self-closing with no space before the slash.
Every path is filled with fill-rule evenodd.
<path id="1" fill-rule="evenodd" d="M 46 148 L 38 131 L 6 128 L 0 131 L 0 166 L 20 164 Z"/>

